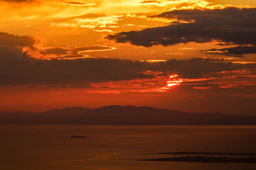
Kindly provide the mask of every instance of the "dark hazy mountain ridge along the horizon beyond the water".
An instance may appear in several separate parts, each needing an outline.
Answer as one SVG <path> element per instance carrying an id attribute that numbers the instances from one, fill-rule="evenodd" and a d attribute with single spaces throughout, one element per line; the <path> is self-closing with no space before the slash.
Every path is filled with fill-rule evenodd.
<path id="1" fill-rule="evenodd" d="M 0 111 L 0 124 L 256 125 L 256 117 L 111 105 L 96 109 L 64 108 L 40 113 Z"/>

